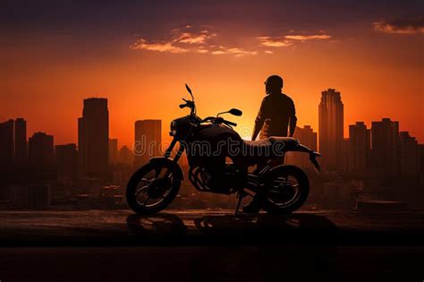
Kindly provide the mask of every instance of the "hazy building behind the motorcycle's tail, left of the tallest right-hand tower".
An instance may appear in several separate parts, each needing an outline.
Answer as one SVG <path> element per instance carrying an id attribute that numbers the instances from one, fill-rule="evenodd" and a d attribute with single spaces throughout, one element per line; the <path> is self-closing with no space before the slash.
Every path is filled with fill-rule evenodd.
<path id="1" fill-rule="evenodd" d="M 314 132 L 310 125 L 305 125 L 303 128 L 296 126 L 293 137 L 301 141 L 301 144 L 310 148 L 310 150 L 317 150 L 317 132 Z M 286 158 L 287 163 L 299 166 L 302 168 L 313 168 L 310 162 L 310 156 L 300 152 L 290 152 Z"/>

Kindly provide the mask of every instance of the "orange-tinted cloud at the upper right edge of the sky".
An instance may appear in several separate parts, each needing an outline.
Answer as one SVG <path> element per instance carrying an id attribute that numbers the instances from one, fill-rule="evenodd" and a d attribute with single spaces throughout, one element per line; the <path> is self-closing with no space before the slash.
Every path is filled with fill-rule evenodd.
<path id="1" fill-rule="evenodd" d="M 424 33 L 424 16 L 372 23 L 374 30 L 392 34 Z"/>

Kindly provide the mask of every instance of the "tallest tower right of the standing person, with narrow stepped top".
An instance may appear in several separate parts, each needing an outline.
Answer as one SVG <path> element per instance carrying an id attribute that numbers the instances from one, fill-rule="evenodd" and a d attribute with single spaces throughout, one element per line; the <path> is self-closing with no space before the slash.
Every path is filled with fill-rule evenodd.
<path id="1" fill-rule="evenodd" d="M 328 89 L 321 92 L 318 106 L 319 151 L 323 167 L 337 170 L 342 166 L 343 156 L 343 102 L 340 92 Z"/>

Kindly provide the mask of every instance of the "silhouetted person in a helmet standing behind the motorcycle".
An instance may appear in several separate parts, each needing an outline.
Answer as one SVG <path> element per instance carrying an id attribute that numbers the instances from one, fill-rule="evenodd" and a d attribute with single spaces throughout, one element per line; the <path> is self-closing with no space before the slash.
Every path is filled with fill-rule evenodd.
<path id="1" fill-rule="evenodd" d="M 293 137 L 296 128 L 296 111 L 292 98 L 285 95 L 283 90 L 283 79 L 278 75 L 271 75 L 265 81 L 267 96 L 262 100 L 259 114 L 255 120 L 255 128 L 251 140 L 254 141 L 260 132 L 260 139 L 271 136 Z M 257 213 L 261 205 L 261 195 L 257 193 L 253 201 L 243 208 L 244 212 Z"/>

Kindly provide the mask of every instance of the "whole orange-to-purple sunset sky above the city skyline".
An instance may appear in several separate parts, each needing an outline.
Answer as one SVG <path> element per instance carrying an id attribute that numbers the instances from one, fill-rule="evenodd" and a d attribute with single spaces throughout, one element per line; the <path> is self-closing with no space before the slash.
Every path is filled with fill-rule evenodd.
<path id="1" fill-rule="evenodd" d="M 298 124 L 342 93 L 348 126 L 391 117 L 424 142 L 422 1 L 2 1 L 0 122 L 77 142 L 82 100 L 108 98 L 109 132 L 170 122 L 193 90 L 199 116 L 228 115 L 250 136 L 270 74 L 284 78 Z"/>

